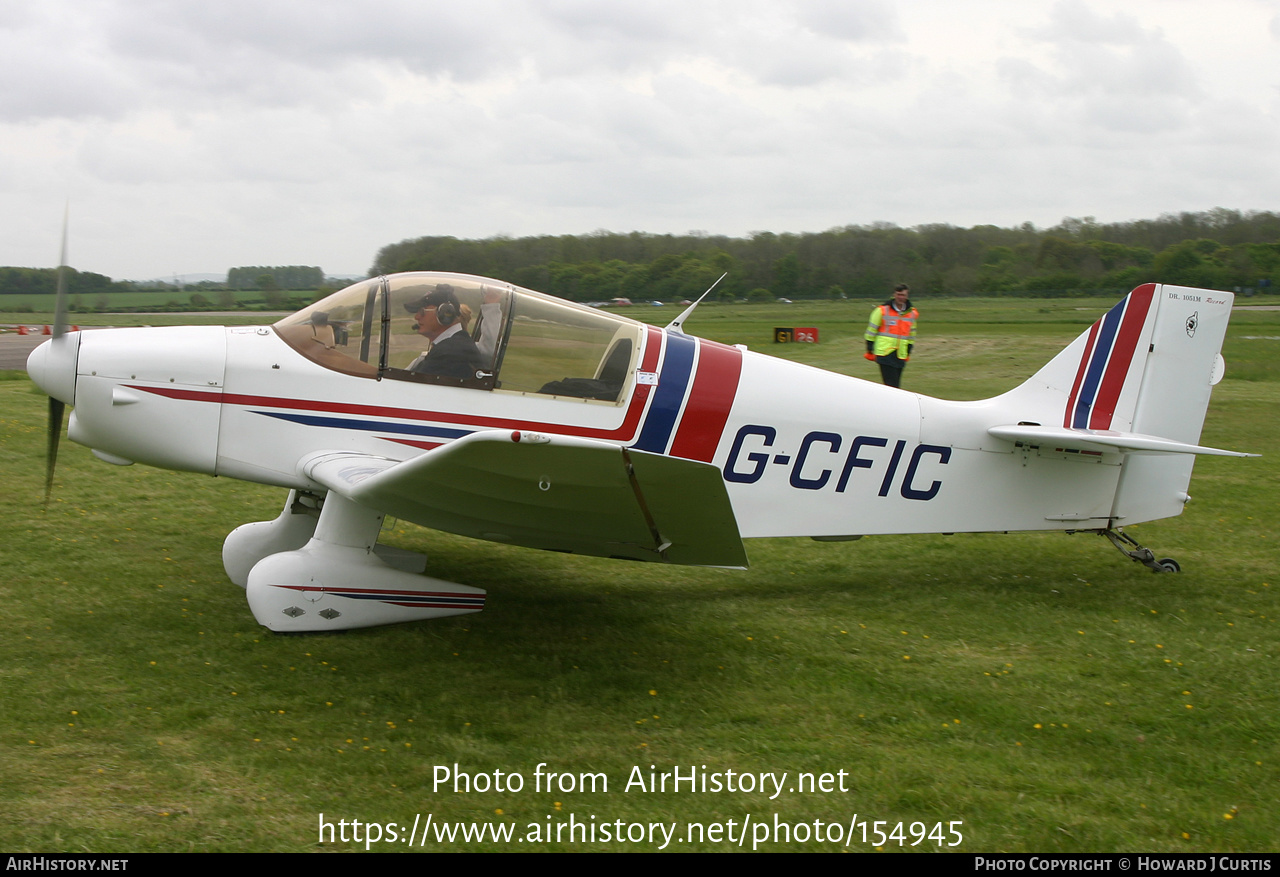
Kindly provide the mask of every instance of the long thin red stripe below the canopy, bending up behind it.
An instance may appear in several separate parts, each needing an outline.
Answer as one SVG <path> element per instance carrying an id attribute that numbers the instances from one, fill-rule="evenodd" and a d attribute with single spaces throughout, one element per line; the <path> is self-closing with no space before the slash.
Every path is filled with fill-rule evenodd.
<path id="1" fill-rule="evenodd" d="M 662 330 L 654 326 L 645 326 L 645 329 L 648 330 L 648 337 L 640 369 L 641 371 L 657 371 L 658 355 L 662 351 Z M 352 414 L 365 417 L 425 420 L 438 424 L 465 424 L 481 429 L 529 429 L 543 433 L 556 433 L 558 435 L 579 435 L 581 438 L 611 439 L 618 442 L 627 442 L 635 438 L 645 406 L 649 402 L 649 397 L 653 394 L 653 387 L 650 384 L 636 385 L 631 393 L 631 403 L 627 406 L 627 412 L 622 419 L 622 425 L 616 429 L 599 429 L 536 420 L 485 417 L 480 415 L 456 414 L 452 411 L 417 411 L 415 408 L 392 408 L 380 405 L 356 405 L 351 402 L 328 402 L 323 399 L 291 399 L 274 396 L 225 393 L 221 390 L 178 389 L 175 387 L 140 387 L 137 384 L 129 384 L 129 388 L 155 393 L 156 396 L 165 396 L 172 399 L 186 399 L 188 402 L 256 405 L 270 408 L 289 408 L 293 411 L 326 411 L 330 414 Z"/>

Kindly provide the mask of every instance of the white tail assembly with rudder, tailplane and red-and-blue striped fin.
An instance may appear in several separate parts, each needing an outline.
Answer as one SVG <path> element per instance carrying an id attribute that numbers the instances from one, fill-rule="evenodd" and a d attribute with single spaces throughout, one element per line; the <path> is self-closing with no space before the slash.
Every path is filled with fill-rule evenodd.
<path id="1" fill-rule="evenodd" d="M 1018 425 L 998 438 L 1125 453 L 1111 517 L 1181 512 L 1210 393 L 1224 373 L 1229 292 L 1148 283 L 1001 401 Z"/>

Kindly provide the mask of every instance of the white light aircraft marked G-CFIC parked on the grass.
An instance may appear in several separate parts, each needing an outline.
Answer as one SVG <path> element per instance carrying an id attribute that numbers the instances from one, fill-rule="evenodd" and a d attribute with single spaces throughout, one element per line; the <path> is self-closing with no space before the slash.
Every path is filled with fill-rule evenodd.
<path id="1" fill-rule="evenodd" d="M 946 402 L 484 278 L 364 280 L 275 325 L 67 333 L 27 362 L 111 463 L 288 489 L 227 575 L 274 631 L 477 612 L 392 515 L 515 545 L 745 567 L 742 539 L 1065 530 L 1178 515 L 1233 296 L 1147 284 L 1020 387 Z M 692 309 L 690 309 L 691 311 Z M 429 344 L 428 339 L 433 339 Z M 424 351 L 429 351 L 425 352 Z M 477 551 L 483 551 L 477 547 Z"/>

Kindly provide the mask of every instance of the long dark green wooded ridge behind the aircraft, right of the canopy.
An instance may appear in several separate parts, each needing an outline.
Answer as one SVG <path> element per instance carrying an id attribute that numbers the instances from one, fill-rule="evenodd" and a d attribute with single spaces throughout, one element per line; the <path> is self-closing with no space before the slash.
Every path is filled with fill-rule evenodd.
<path id="1" fill-rule="evenodd" d="M 1280 274 L 1280 214 L 1228 210 L 1052 228 L 891 223 L 745 238 L 643 232 L 422 237 L 383 247 L 371 274 L 443 270 L 509 280 L 573 301 L 877 298 L 895 283 L 931 294 L 1114 294 L 1149 280 L 1217 289 Z"/>

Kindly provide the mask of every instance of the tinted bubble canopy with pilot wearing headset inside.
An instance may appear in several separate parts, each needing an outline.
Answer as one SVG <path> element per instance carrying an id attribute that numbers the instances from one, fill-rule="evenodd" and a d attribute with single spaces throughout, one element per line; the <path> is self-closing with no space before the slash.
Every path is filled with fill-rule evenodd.
<path id="1" fill-rule="evenodd" d="M 643 325 L 500 280 L 416 271 L 355 283 L 274 329 L 344 375 L 617 405 Z"/>

